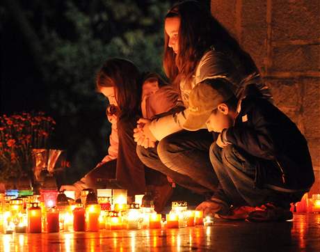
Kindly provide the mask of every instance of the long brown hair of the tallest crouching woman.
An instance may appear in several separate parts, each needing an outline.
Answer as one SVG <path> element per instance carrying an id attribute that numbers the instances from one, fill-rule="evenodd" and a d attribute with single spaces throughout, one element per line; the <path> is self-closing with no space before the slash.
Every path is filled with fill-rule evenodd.
<path id="1" fill-rule="evenodd" d="M 250 55 L 198 1 L 177 3 L 168 11 L 165 18 L 168 17 L 180 18 L 177 54 L 168 47 L 169 37 L 164 32 L 163 69 L 176 87 L 182 78 L 191 78 L 203 54 L 217 42 L 237 55 L 241 63 L 248 64 L 248 68 L 256 68 Z"/>

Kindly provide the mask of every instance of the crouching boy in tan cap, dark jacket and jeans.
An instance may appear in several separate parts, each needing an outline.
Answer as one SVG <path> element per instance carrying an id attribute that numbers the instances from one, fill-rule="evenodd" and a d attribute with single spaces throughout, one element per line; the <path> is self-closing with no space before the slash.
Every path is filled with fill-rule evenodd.
<path id="1" fill-rule="evenodd" d="M 225 79 L 205 80 L 189 96 L 184 128 L 207 125 L 219 133 L 209 153 L 219 189 L 197 208 L 227 217 L 249 205 L 248 221 L 292 219 L 290 203 L 301 200 L 314 182 L 307 141 L 254 84 L 239 104 L 229 86 Z"/>

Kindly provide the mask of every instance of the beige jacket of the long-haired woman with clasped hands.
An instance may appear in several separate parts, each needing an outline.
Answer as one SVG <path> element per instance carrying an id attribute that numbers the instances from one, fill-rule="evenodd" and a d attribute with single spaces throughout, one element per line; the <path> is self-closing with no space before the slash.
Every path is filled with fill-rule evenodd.
<path id="1" fill-rule="evenodd" d="M 230 81 L 233 84 L 231 87 L 232 90 L 238 96 L 241 94 L 241 90 L 243 90 L 244 86 L 255 83 L 263 95 L 266 98 L 271 99 L 270 90 L 262 83 L 259 73 L 255 70 L 250 74 L 245 74 L 244 72 L 245 70 L 243 67 L 239 65 L 239 63 L 235 63 L 231 56 L 228 56 L 223 52 L 218 52 L 214 48 L 210 49 L 202 56 L 198 63 L 193 80 L 189 83 L 186 83 L 186 81 L 180 83 L 184 107 L 189 107 L 189 94 L 195 85 L 205 79 L 214 78 L 225 78 Z M 164 137 L 182 130 L 182 125 L 184 125 L 187 116 L 187 110 L 185 109 L 184 111 L 158 118 L 157 120 L 152 120 L 150 130 L 154 137 L 160 141 Z M 206 128 L 205 125 L 203 128 Z"/>

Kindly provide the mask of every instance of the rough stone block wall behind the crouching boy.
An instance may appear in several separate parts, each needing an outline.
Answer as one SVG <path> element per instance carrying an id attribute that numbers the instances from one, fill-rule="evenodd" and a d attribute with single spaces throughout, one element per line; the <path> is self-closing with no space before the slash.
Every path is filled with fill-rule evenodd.
<path id="1" fill-rule="evenodd" d="M 211 0 L 211 13 L 253 57 L 275 104 L 308 141 L 320 193 L 320 1 Z"/>

